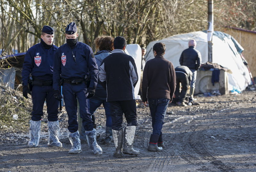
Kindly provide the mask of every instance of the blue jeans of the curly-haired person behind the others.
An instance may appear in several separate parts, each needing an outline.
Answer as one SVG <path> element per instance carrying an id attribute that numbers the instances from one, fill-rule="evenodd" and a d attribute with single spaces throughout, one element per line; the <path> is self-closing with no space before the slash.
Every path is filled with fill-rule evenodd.
<path id="1" fill-rule="evenodd" d="M 89 99 L 90 113 L 93 115 L 97 111 L 98 107 L 100 107 L 100 105 L 103 104 L 105 109 L 105 114 L 106 114 L 106 126 L 112 127 L 112 118 L 110 115 L 110 104 L 106 100 L 96 100 L 92 98 Z"/>

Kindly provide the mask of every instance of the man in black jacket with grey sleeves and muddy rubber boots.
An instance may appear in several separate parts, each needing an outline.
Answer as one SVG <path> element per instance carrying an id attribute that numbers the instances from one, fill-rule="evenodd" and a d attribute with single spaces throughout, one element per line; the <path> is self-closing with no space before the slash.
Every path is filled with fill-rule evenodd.
<path id="1" fill-rule="evenodd" d="M 132 148 L 137 125 L 134 87 L 138 82 L 138 73 L 132 56 L 124 53 L 126 40 L 118 36 L 114 39 L 114 50 L 100 66 L 99 80 L 107 88 L 107 101 L 112 115 L 112 132 L 116 147 L 115 157 L 124 154 L 138 155 L 140 151 Z M 122 128 L 123 113 L 127 126 Z M 124 137 L 123 137 L 124 135 Z"/>

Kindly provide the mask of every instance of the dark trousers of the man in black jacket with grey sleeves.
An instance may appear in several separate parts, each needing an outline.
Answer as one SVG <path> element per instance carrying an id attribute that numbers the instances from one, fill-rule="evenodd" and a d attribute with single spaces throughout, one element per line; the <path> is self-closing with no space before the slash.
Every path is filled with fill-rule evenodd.
<path id="1" fill-rule="evenodd" d="M 137 125 L 137 111 L 135 100 L 114 101 L 109 103 L 113 130 L 118 131 L 122 129 L 123 114 L 127 121 L 127 126 Z"/>

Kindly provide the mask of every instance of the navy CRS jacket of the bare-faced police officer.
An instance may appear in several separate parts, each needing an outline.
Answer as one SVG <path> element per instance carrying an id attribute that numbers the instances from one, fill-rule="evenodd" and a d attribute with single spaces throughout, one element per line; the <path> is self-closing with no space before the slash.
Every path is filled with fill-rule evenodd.
<path id="1" fill-rule="evenodd" d="M 46 50 L 41 43 L 28 49 L 21 73 L 23 85 L 28 85 L 30 73 L 43 81 L 52 80 L 53 59 L 57 49 L 57 46 L 52 45 L 49 50 Z"/>

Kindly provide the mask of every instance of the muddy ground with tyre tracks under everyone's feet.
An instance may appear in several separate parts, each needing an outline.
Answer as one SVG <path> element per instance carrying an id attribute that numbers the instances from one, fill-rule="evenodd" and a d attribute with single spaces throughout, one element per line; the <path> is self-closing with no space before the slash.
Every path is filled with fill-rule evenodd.
<path id="1" fill-rule="evenodd" d="M 137 157 L 114 158 L 113 143 L 100 145 L 103 155 L 96 156 L 85 141 L 82 153 L 68 154 L 67 114 L 62 112 L 61 148 L 47 146 L 47 123 L 42 125 L 36 148 L 26 146 L 28 133 L 2 133 L 0 171 L 256 171 L 256 91 L 197 97 L 197 102 L 200 105 L 187 107 L 169 104 L 163 152 L 147 151 L 151 118 L 149 108 L 142 104 L 137 107 L 134 147 L 141 152 Z M 95 115 L 100 140 L 104 137 L 104 109 Z"/>

